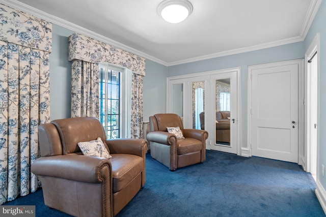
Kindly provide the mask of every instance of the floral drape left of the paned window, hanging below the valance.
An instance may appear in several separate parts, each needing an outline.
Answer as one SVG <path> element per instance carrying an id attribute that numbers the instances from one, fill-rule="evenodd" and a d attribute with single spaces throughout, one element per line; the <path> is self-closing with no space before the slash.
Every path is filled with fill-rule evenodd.
<path id="1" fill-rule="evenodd" d="M 71 68 L 71 117 L 99 118 L 98 64 L 77 59 Z"/>

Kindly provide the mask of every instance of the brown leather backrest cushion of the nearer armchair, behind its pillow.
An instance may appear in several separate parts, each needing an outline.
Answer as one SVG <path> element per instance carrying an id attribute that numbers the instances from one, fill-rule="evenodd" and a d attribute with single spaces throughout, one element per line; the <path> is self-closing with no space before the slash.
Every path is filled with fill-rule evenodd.
<path id="1" fill-rule="evenodd" d="M 105 144 L 106 135 L 101 122 L 96 117 L 73 117 L 59 120 L 52 120 L 56 126 L 61 143 L 63 154 L 80 152 L 78 142 L 88 142 L 100 137 Z"/>

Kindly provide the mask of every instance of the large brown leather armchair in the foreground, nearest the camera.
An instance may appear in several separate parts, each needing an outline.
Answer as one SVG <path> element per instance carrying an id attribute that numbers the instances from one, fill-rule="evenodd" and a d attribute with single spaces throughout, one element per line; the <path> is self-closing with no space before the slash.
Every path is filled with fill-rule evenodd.
<path id="1" fill-rule="evenodd" d="M 84 156 L 78 142 L 101 138 L 112 158 Z M 31 166 L 45 205 L 73 216 L 114 216 L 146 182 L 147 142 L 106 140 L 97 118 L 74 117 L 39 126 L 41 158 Z"/>

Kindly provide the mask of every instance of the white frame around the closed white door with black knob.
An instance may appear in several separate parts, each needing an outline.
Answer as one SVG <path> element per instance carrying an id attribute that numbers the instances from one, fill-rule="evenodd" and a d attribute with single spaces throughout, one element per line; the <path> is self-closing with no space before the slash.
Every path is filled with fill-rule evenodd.
<path id="1" fill-rule="evenodd" d="M 279 67 L 286 65 L 298 65 L 298 165 L 304 164 L 304 59 L 279 61 L 269 64 L 248 66 L 248 154 L 252 156 L 252 70 L 257 68 Z"/>

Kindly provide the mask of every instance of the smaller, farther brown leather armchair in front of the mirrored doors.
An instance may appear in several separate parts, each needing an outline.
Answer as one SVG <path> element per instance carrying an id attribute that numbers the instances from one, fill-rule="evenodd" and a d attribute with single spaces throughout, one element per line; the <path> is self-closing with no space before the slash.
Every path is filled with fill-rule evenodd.
<path id="1" fill-rule="evenodd" d="M 183 123 L 177 114 L 155 114 L 149 117 L 151 157 L 167 166 L 171 171 L 206 160 L 207 131 L 183 129 Z M 177 140 L 167 127 L 179 127 L 184 139 Z"/>

